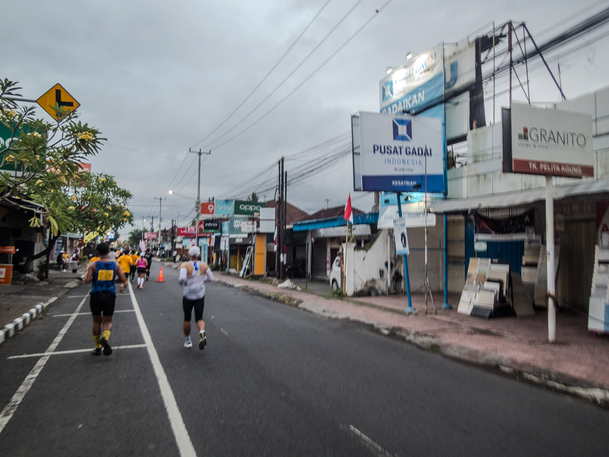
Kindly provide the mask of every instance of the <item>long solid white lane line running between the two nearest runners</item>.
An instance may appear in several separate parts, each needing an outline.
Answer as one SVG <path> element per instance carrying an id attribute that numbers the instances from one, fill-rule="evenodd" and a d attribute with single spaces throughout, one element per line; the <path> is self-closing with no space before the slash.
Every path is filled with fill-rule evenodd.
<path id="1" fill-rule="evenodd" d="M 154 374 L 157 376 L 158 386 L 161 389 L 161 396 L 163 397 L 163 403 L 165 403 L 167 416 L 169 416 L 171 430 L 174 432 L 175 442 L 178 445 L 178 450 L 180 450 L 180 456 L 197 457 L 188 430 L 186 430 L 186 425 L 184 425 L 184 420 L 180 414 L 178 403 L 175 401 L 174 392 L 171 390 L 169 380 L 167 380 L 167 375 L 165 374 L 165 370 L 163 370 L 163 365 L 161 365 L 161 360 L 158 358 L 157 350 L 152 343 L 152 337 L 150 336 L 150 332 L 144 321 L 144 316 L 142 316 L 142 312 L 139 310 L 138 300 L 135 299 L 131 283 L 129 283 L 129 294 L 131 295 L 131 302 L 135 309 L 135 315 L 138 317 L 139 330 L 142 332 L 144 342 L 146 342 Z"/>

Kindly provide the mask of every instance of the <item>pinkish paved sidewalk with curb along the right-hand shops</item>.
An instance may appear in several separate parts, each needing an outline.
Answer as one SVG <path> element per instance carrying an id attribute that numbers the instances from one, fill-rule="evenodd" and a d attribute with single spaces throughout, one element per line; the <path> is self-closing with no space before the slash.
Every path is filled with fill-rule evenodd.
<path id="1" fill-rule="evenodd" d="M 418 314 L 407 316 L 406 296 L 331 299 L 220 272 L 214 276 L 230 286 L 291 297 L 300 302 L 299 308 L 313 313 L 373 325 L 424 349 L 609 405 L 609 336 L 595 337 L 583 315 L 559 311 L 557 342 L 550 344 L 545 310 L 534 317 L 480 319 L 457 313 L 458 294 L 449 295 L 452 310 L 440 309 L 443 296 L 434 294 L 438 313 L 433 313 L 429 300 L 429 314 L 424 314 L 424 296 L 414 294 L 412 305 Z"/>

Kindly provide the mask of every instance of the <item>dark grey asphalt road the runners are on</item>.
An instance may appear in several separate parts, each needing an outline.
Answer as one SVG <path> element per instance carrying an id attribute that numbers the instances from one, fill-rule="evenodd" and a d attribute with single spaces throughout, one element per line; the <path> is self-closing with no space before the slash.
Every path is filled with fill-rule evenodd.
<path id="1" fill-rule="evenodd" d="M 62 353 L 93 347 L 73 315 L 85 285 L 0 347 L 0 456 L 607 454 L 605 409 L 219 283 L 208 346 L 193 331 L 185 349 L 177 272 L 157 283 L 159 266 L 136 306 L 117 298 L 110 342 L 131 347 Z"/>

